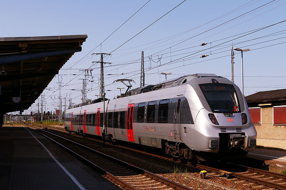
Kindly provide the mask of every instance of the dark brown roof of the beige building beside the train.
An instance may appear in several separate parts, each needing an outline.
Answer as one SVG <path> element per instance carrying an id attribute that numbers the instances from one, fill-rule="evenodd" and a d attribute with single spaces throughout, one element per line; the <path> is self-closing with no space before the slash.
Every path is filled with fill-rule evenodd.
<path id="1" fill-rule="evenodd" d="M 286 100 L 286 89 L 257 92 L 246 96 L 245 100 L 247 103 Z"/>

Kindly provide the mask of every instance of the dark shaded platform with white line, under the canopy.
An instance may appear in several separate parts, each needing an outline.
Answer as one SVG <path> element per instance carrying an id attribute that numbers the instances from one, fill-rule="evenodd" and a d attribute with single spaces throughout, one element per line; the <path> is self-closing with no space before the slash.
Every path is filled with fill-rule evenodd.
<path id="1" fill-rule="evenodd" d="M 0 190 L 120 189 L 51 141 L 21 125 L 5 125 L 0 130 L 0 153 Z"/>

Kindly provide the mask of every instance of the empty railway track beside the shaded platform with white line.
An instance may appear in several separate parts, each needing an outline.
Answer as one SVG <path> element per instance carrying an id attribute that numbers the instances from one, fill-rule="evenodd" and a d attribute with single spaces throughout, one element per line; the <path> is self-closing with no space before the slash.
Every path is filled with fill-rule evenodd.
<path id="1" fill-rule="evenodd" d="M 109 157 L 106 154 L 52 134 L 48 131 L 39 128 L 36 128 L 35 131 L 58 144 L 68 152 L 83 159 L 90 166 L 95 167 L 99 173 L 105 175 L 110 181 L 121 184 L 121 188 L 133 190 L 151 188 L 160 190 L 192 190 L 184 185 L 132 166 L 113 157 Z"/>

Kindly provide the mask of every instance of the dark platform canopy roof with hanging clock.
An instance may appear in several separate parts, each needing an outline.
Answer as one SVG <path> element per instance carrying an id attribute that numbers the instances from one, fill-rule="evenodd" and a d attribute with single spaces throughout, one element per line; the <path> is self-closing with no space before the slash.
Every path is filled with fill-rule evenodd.
<path id="1" fill-rule="evenodd" d="M 0 114 L 28 109 L 87 35 L 0 38 Z"/>

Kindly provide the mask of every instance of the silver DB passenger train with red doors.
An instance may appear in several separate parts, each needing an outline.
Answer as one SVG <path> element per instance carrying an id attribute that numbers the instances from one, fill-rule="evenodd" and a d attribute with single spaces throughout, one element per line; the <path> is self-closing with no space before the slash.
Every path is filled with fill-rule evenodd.
<path id="1" fill-rule="evenodd" d="M 257 135 L 240 89 L 215 74 L 187 75 L 114 100 L 81 103 L 66 111 L 64 125 L 70 133 L 156 147 L 188 160 L 243 158 L 256 147 Z"/>

